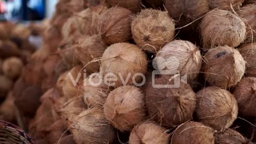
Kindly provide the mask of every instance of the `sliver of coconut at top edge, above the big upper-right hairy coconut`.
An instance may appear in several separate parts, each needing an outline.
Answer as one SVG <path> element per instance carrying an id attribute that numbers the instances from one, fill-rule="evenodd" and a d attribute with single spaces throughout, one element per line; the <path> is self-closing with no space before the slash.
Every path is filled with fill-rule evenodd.
<path id="1" fill-rule="evenodd" d="M 211 9 L 222 9 L 222 10 L 238 10 L 240 6 L 242 6 L 242 3 L 244 0 L 210 0 L 209 4 Z"/>

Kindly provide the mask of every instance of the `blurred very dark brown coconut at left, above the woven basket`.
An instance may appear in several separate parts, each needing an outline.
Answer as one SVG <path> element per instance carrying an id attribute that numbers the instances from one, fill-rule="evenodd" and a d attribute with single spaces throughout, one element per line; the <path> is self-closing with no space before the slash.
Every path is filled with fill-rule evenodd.
<path id="1" fill-rule="evenodd" d="M 19 97 L 15 98 L 15 105 L 23 115 L 33 117 L 40 106 L 40 97 L 43 94 L 41 87 L 29 86 Z M 29 107 L 28 107 L 29 106 Z"/>

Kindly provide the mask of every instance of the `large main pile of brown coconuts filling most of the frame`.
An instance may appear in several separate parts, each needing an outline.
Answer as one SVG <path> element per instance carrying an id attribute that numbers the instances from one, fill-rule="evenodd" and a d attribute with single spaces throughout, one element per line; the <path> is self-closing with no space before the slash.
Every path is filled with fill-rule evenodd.
<path id="1" fill-rule="evenodd" d="M 256 5 L 59 0 L 13 95 L 37 143 L 256 141 Z"/>

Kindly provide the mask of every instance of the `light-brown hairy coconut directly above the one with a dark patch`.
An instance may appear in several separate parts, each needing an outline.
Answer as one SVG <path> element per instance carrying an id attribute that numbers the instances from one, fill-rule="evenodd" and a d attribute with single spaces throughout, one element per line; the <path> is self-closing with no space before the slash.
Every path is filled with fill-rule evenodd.
<path id="1" fill-rule="evenodd" d="M 201 22 L 200 31 L 204 49 L 224 45 L 236 47 L 246 36 L 243 20 L 225 10 L 212 10 L 207 13 Z"/>

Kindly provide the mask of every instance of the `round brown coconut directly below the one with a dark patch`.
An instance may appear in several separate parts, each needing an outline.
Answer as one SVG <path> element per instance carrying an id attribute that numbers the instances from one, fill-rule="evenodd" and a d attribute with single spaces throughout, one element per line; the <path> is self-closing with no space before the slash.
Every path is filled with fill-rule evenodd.
<path id="1" fill-rule="evenodd" d="M 233 124 L 237 114 L 236 99 L 229 91 L 209 86 L 197 92 L 196 115 L 199 122 L 215 130 L 226 129 Z"/>

